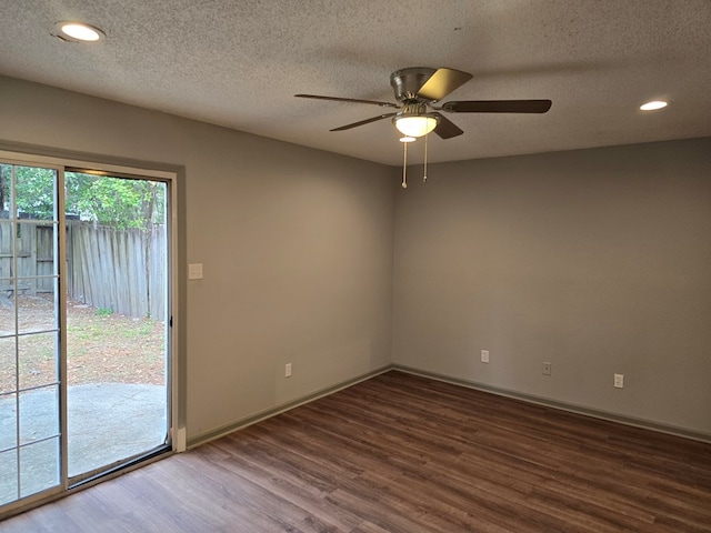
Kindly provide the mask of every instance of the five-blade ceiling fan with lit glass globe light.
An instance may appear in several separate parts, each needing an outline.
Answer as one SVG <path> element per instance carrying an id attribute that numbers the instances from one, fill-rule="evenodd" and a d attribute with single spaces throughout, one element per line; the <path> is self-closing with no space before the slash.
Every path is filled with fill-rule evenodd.
<path id="1" fill-rule="evenodd" d="M 294 94 L 298 98 L 331 100 L 338 102 L 367 103 L 400 111 L 382 113 L 365 120 L 333 128 L 343 131 L 392 117 L 395 128 L 407 138 L 418 138 L 434 132 L 442 139 L 461 135 L 463 131 L 439 111 L 447 113 L 545 113 L 551 109 L 550 100 L 463 100 L 435 105 L 454 89 L 471 80 L 472 74 L 460 70 L 427 67 L 401 69 L 390 74 L 395 100 L 399 103 L 360 100 L 354 98 L 323 97 L 319 94 Z"/>

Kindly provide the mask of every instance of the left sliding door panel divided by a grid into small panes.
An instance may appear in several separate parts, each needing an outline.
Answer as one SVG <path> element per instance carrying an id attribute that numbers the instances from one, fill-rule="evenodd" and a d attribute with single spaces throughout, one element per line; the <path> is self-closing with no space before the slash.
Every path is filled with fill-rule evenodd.
<path id="1" fill-rule="evenodd" d="M 0 164 L 0 504 L 61 484 L 58 178 Z"/>

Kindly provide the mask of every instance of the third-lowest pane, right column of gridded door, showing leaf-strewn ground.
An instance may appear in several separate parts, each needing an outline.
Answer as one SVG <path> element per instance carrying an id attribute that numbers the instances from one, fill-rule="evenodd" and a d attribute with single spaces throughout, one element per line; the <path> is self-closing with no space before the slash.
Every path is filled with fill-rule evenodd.
<path id="1" fill-rule="evenodd" d="M 18 338 L 20 390 L 58 381 L 57 333 L 36 333 Z"/>

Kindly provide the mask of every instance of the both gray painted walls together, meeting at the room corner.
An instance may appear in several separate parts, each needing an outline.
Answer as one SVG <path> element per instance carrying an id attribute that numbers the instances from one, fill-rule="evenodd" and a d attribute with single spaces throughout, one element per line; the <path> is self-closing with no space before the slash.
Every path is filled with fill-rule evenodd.
<path id="1" fill-rule="evenodd" d="M 402 191 L 395 168 L 9 78 L 0 117 L 0 143 L 184 167 L 189 440 L 391 361 L 711 435 L 711 139 L 413 168 Z"/>

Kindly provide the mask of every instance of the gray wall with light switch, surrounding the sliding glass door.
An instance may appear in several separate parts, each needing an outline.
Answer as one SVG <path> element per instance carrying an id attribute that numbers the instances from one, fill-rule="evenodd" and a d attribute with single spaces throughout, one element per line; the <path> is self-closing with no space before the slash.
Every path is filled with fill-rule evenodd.
<path id="1" fill-rule="evenodd" d="M 1 77 L 0 118 L 6 147 L 184 167 L 189 441 L 390 363 L 392 169 Z"/>

